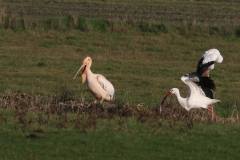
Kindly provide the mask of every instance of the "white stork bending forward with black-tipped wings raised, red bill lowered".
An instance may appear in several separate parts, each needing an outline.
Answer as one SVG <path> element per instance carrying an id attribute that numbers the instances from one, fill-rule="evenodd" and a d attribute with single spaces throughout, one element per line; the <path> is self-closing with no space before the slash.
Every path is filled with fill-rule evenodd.
<path id="1" fill-rule="evenodd" d="M 205 64 L 197 66 L 197 72 L 189 73 L 181 77 L 181 80 L 188 87 L 188 97 L 182 98 L 178 88 L 172 88 L 168 94 L 163 97 L 162 104 L 164 103 L 167 96 L 175 94 L 178 102 L 187 111 L 193 108 L 205 108 L 212 113 L 212 121 L 214 121 L 214 112 L 212 104 L 221 102 L 220 100 L 213 99 L 213 93 L 215 90 L 215 83 L 210 77 L 202 77 L 202 74 L 213 65 L 215 61 L 209 61 Z M 199 63 L 198 63 L 199 64 Z"/>

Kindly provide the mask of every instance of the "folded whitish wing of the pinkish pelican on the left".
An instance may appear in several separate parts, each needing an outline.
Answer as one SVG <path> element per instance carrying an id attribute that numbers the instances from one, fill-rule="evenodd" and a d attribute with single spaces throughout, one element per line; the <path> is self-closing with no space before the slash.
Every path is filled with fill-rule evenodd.
<path id="1" fill-rule="evenodd" d="M 111 82 L 109 82 L 103 75 L 94 74 L 98 83 L 108 93 L 112 100 L 115 100 L 115 90 Z"/>

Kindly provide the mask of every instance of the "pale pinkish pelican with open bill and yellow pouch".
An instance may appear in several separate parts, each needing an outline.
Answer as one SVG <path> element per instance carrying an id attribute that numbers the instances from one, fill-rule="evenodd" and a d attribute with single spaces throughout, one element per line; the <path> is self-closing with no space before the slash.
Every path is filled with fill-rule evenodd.
<path id="1" fill-rule="evenodd" d="M 115 100 L 115 89 L 111 82 L 109 82 L 103 75 L 94 74 L 90 70 L 92 65 L 92 59 L 90 57 L 86 57 L 83 60 L 82 66 L 79 68 L 73 80 L 77 77 L 78 73 L 81 69 L 82 71 L 82 84 L 86 81 L 87 87 L 90 92 L 95 97 L 94 103 L 97 103 L 98 99 L 101 99 L 100 104 L 103 103 L 104 100 L 114 101 Z"/>

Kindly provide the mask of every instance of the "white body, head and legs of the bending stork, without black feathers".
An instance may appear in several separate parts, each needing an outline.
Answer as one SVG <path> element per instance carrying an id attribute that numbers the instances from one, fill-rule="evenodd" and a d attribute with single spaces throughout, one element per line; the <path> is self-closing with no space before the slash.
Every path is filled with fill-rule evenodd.
<path id="1" fill-rule="evenodd" d="M 182 98 L 179 92 L 179 89 L 172 88 L 171 91 L 163 97 L 163 101 L 166 99 L 167 96 L 171 94 L 175 94 L 177 96 L 178 102 L 181 104 L 183 108 L 187 111 L 190 111 L 193 108 L 205 108 L 211 111 L 212 113 L 212 120 L 214 121 L 214 112 L 212 104 L 221 102 L 217 99 L 211 99 L 206 96 L 204 90 L 196 83 L 192 82 L 191 80 L 185 80 L 185 84 L 188 87 L 188 97 Z M 162 102 L 163 103 L 163 102 Z"/>

